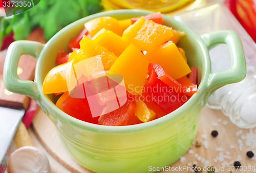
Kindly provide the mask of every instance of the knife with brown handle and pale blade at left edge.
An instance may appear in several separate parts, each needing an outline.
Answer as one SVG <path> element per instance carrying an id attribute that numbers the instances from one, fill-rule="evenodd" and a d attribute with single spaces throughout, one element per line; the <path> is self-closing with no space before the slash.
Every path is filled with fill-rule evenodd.
<path id="1" fill-rule="evenodd" d="M 1 56 L 0 56 L 1 58 Z M 3 57 L 2 57 L 3 58 Z M 22 55 L 18 64 L 18 76 L 23 80 L 33 80 L 36 60 L 32 56 Z M 2 72 L 1 72 L 2 73 Z M 0 79 L 0 81 L 2 81 Z M 28 107 L 29 98 L 6 90 L 0 83 L 0 163 L 17 131 L 17 127 Z"/>

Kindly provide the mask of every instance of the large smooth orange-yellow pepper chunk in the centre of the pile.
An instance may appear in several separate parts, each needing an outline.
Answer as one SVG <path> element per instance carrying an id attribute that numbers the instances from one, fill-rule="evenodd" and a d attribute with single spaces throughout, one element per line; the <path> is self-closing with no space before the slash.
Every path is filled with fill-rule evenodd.
<path id="1" fill-rule="evenodd" d="M 141 95 L 147 76 L 148 60 L 133 44 L 129 45 L 114 62 L 108 74 L 123 77 L 126 90 Z"/>

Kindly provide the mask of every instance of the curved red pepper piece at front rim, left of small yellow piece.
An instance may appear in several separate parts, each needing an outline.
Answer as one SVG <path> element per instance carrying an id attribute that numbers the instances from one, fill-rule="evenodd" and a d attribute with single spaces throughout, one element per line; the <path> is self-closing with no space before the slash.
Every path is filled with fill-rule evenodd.
<path id="1" fill-rule="evenodd" d="M 127 101 L 124 105 L 115 111 L 101 115 L 98 122 L 101 125 L 110 126 L 126 125 L 132 116 L 134 116 L 135 107 L 136 103 L 134 99 L 130 96 L 127 96 Z"/>

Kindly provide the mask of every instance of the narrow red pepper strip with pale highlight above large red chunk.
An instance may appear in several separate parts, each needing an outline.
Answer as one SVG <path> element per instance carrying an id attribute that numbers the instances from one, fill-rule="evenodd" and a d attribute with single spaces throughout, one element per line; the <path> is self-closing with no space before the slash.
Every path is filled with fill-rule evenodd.
<path id="1" fill-rule="evenodd" d="M 157 73 L 157 78 L 160 79 L 165 84 L 167 84 L 176 93 L 180 94 L 182 92 L 181 84 L 177 80 L 175 80 L 172 76 L 168 75 L 159 64 L 150 63 L 148 65 L 148 69 L 153 69 Z"/>

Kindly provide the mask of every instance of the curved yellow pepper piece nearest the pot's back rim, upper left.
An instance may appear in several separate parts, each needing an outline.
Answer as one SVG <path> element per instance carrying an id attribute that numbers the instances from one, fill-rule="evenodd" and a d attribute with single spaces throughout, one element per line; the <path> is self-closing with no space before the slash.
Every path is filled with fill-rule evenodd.
<path id="1" fill-rule="evenodd" d="M 91 34 L 91 36 L 97 34 L 97 32 L 99 32 L 99 30 L 101 30 L 102 28 L 113 31 L 120 36 L 122 36 L 123 33 L 123 30 L 119 24 L 119 20 L 109 16 L 92 19 L 85 23 L 84 27 L 86 27 L 87 31 Z"/>

